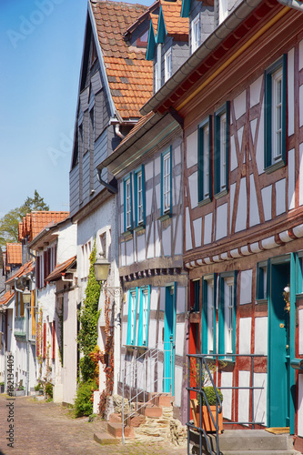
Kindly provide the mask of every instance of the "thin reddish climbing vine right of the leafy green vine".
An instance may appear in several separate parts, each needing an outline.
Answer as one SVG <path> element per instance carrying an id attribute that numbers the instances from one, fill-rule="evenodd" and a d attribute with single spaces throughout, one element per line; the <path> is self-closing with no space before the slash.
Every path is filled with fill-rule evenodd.
<path id="1" fill-rule="evenodd" d="M 106 291 L 106 288 L 105 288 Z M 100 396 L 99 413 L 102 418 L 105 417 L 106 412 L 106 399 L 113 393 L 114 388 L 114 328 L 110 324 L 111 317 L 111 304 L 110 298 L 106 291 L 105 301 L 105 320 L 106 320 L 106 346 L 104 351 L 100 351 L 99 360 L 104 365 L 106 373 L 106 389 L 104 389 Z"/>

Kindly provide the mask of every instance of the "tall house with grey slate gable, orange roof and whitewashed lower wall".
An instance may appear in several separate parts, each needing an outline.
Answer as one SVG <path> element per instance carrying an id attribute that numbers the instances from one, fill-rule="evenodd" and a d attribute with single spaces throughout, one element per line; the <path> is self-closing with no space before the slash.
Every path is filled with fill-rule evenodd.
<path id="1" fill-rule="evenodd" d="M 114 393 L 120 363 L 121 308 L 117 269 L 116 180 L 96 166 L 109 157 L 141 117 L 139 108 L 152 95 L 152 64 L 146 61 L 147 8 L 117 2 L 88 2 L 86 35 L 76 111 L 75 141 L 70 171 L 70 210 L 77 229 L 79 305 L 85 298 L 89 257 L 96 242 L 97 256 L 110 262 L 100 294 L 98 346 L 106 346 L 106 305 L 113 336 Z M 114 357 L 114 359 L 112 359 Z M 106 387 L 100 364 L 99 390 Z M 95 408 L 99 399 L 95 394 Z"/>

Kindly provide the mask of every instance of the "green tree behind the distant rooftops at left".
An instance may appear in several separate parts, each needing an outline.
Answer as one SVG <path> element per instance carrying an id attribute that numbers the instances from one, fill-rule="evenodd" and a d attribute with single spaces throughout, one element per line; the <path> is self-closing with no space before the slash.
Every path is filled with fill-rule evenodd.
<path id="1" fill-rule="evenodd" d="M 0 247 L 5 247 L 6 243 L 18 241 L 20 221 L 22 221 L 26 213 L 31 213 L 35 210 L 49 210 L 44 198 L 39 195 L 36 189 L 34 197 L 26 197 L 21 207 L 13 208 L 0 219 Z"/>

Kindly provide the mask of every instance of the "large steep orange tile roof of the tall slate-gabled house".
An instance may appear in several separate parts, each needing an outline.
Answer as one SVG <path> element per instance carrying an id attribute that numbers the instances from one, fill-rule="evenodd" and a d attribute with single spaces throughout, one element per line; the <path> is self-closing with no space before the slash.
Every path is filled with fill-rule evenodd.
<path id="1" fill-rule="evenodd" d="M 91 5 L 116 109 L 124 119 L 138 118 L 153 94 L 153 64 L 146 49 L 129 45 L 124 35 L 147 7 L 96 0 Z"/>

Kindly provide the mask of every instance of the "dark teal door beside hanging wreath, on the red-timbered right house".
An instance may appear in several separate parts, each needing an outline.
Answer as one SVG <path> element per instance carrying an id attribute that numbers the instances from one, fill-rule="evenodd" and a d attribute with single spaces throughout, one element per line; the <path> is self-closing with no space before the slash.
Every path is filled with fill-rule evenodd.
<path id="1" fill-rule="evenodd" d="M 289 427 L 289 312 L 283 290 L 290 284 L 290 263 L 270 268 L 268 318 L 268 426 Z"/>

